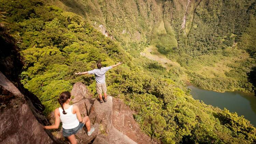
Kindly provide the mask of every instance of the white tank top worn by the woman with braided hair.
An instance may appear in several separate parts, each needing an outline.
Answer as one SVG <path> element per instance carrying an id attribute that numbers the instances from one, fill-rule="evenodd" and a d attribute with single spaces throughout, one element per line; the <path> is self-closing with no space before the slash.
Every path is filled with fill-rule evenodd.
<path id="1" fill-rule="evenodd" d="M 73 129 L 79 125 L 79 121 L 76 118 L 76 114 L 72 113 L 73 105 L 70 105 L 65 112 L 67 114 L 63 114 L 63 110 L 59 107 L 60 120 L 62 122 L 62 128 L 64 129 Z"/>

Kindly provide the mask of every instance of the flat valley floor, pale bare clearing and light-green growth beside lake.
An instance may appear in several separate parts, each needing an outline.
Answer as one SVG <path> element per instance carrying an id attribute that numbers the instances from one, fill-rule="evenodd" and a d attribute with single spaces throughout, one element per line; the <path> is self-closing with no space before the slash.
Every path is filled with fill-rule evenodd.
<path id="1" fill-rule="evenodd" d="M 238 85 L 239 78 L 247 78 L 246 74 L 244 75 L 234 75 L 238 74 L 237 71 L 242 67 L 242 64 L 250 60 L 249 55 L 243 50 L 237 49 L 236 47 L 232 48 L 232 56 L 223 56 L 223 55 L 202 55 L 198 58 L 193 58 L 188 61 L 188 65 L 181 66 L 180 63 L 170 60 L 171 55 L 163 55 L 158 52 L 157 47 L 155 45 L 149 45 L 146 47 L 141 53 L 141 56 L 144 56 L 148 59 L 157 61 L 162 67 L 166 68 L 166 71 L 169 72 L 170 69 L 180 69 L 182 71 L 182 75 L 180 75 L 180 79 L 183 81 L 191 82 L 194 85 L 197 85 L 201 88 L 213 90 L 217 92 L 225 92 L 225 91 L 234 91 L 240 90 L 244 92 L 250 92 L 247 89 Z M 229 51 L 229 50 L 227 50 Z M 178 59 L 178 58 L 174 58 Z M 230 75 L 233 73 L 233 75 Z M 222 80 L 219 80 L 222 79 Z M 221 83 L 225 80 L 229 80 L 229 84 L 223 85 L 231 85 L 232 86 L 216 86 L 217 82 Z M 217 82 L 215 82 L 217 81 Z"/>

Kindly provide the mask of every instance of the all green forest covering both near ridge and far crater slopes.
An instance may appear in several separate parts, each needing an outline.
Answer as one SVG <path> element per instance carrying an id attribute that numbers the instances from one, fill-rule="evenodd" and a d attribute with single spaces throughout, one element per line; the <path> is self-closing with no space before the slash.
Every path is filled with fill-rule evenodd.
<path id="1" fill-rule="evenodd" d="M 256 143 L 250 121 L 194 100 L 181 79 L 186 74 L 203 88 L 253 92 L 255 1 L 191 1 L 186 12 L 187 4 L 2 0 L 0 12 L 24 57 L 22 83 L 45 105 L 45 115 L 59 107 L 59 93 L 76 82 L 96 96 L 94 77 L 74 72 L 92 70 L 99 60 L 103 66 L 122 61 L 106 73 L 108 91 L 136 111 L 134 119 L 152 138 L 163 143 Z M 72 6 L 76 9 L 71 12 Z M 114 40 L 97 30 L 100 24 Z M 140 56 L 149 45 L 181 67 L 167 71 Z M 212 74 L 218 64 L 224 71 Z"/>

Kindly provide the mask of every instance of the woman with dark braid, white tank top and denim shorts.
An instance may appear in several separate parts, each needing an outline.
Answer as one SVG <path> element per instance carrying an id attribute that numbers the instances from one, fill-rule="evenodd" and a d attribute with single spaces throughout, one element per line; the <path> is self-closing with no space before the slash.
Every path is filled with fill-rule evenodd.
<path id="1" fill-rule="evenodd" d="M 67 137 L 71 144 L 76 144 L 75 134 L 79 132 L 85 125 L 87 128 L 87 135 L 90 136 L 95 128 L 90 126 L 90 119 L 88 116 L 82 118 L 78 106 L 69 105 L 71 101 L 71 94 L 68 91 L 62 92 L 58 99 L 61 107 L 55 109 L 55 124 L 51 126 L 43 126 L 44 129 L 57 129 L 62 122 L 63 136 Z"/>

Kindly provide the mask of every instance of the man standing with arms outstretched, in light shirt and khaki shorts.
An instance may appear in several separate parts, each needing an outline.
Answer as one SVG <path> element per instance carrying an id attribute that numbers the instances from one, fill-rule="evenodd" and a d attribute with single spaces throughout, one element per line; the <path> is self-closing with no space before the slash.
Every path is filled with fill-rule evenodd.
<path id="1" fill-rule="evenodd" d="M 100 103 L 102 104 L 103 103 L 103 100 L 102 100 L 102 91 L 104 93 L 104 102 L 106 102 L 106 99 L 107 99 L 107 94 L 106 94 L 106 82 L 105 82 L 105 73 L 116 67 L 116 66 L 119 66 L 120 64 L 122 64 L 123 62 L 118 62 L 117 64 L 113 65 L 113 66 L 109 66 L 109 67 L 102 67 L 101 68 L 101 62 L 98 62 L 97 63 L 97 67 L 98 69 L 94 69 L 94 70 L 91 70 L 91 71 L 87 71 L 87 72 L 79 72 L 79 73 L 75 73 L 75 74 L 94 74 L 95 75 L 95 80 L 96 80 L 96 90 L 97 90 L 97 93 L 99 94 L 99 97 L 100 97 Z"/>

